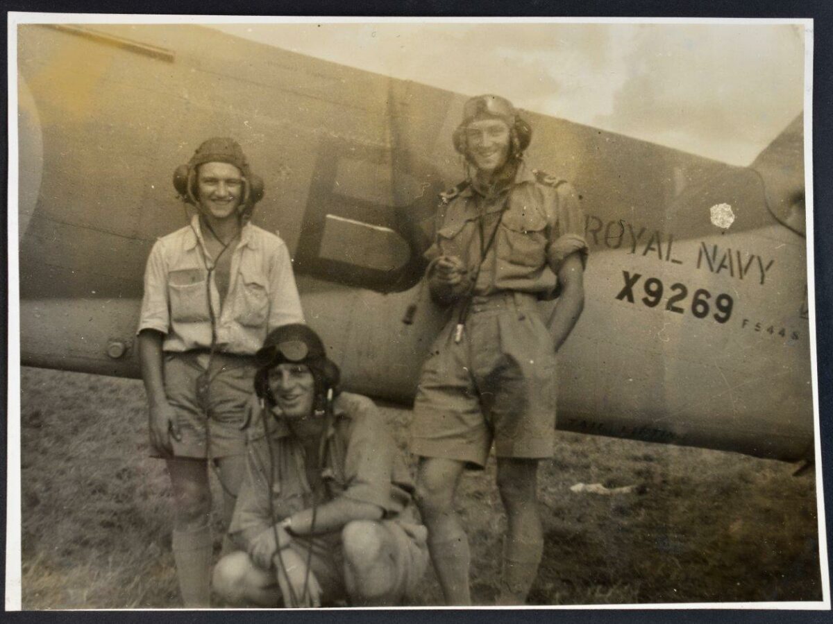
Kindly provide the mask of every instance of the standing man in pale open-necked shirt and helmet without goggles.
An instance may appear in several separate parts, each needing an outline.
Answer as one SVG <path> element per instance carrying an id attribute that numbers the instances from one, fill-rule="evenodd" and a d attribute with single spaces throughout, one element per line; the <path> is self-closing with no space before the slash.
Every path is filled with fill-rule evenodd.
<path id="1" fill-rule="evenodd" d="M 190 224 L 157 240 L 138 328 L 154 457 L 174 504 L 172 547 L 182 601 L 207 607 L 212 565 L 208 463 L 232 516 L 245 470 L 245 409 L 267 333 L 303 320 L 287 245 L 249 221 L 263 193 L 237 141 L 204 141 L 174 186 Z"/>

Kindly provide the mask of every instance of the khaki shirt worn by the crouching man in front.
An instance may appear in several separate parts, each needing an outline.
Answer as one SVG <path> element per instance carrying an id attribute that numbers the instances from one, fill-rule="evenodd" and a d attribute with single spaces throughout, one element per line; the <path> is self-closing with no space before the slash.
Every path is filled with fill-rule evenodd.
<path id="1" fill-rule="evenodd" d="M 384 518 L 413 522 L 413 480 L 384 416 L 359 394 L 339 394 L 333 408 L 335 419 L 327 429 L 323 453 L 324 489 L 318 492 L 310 488 L 304 449 L 287 424 L 271 415 L 252 417 L 247 429 L 247 473 L 228 528 L 238 544 L 247 546 L 276 522 L 311 508 L 312 503 L 342 496 L 377 505 Z M 337 532 L 329 537 L 333 542 L 341 539 Z"/>

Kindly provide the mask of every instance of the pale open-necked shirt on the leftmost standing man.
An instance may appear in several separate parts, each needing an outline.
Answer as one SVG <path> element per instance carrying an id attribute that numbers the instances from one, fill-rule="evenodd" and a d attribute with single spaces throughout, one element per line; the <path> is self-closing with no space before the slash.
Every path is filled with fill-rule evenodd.
<path id="1" fill-rule="evenodd" d="M 157 240 L 147 259 L 138 331 L 156 329 L 166 334 L 164 351 L 207 349 L 212 344 L 209 290 L 217 319 L 217 348 L 225 353 L 254 354 L 272 329 L 303 322 L 292 260 L 283 240 L 247 223 L 237 247 L 229 251 L 230 283 L 221 309 L 213 271 L 207 284 L 212 260 L 199 217 L 194 215 L 191 225 Z"/>

